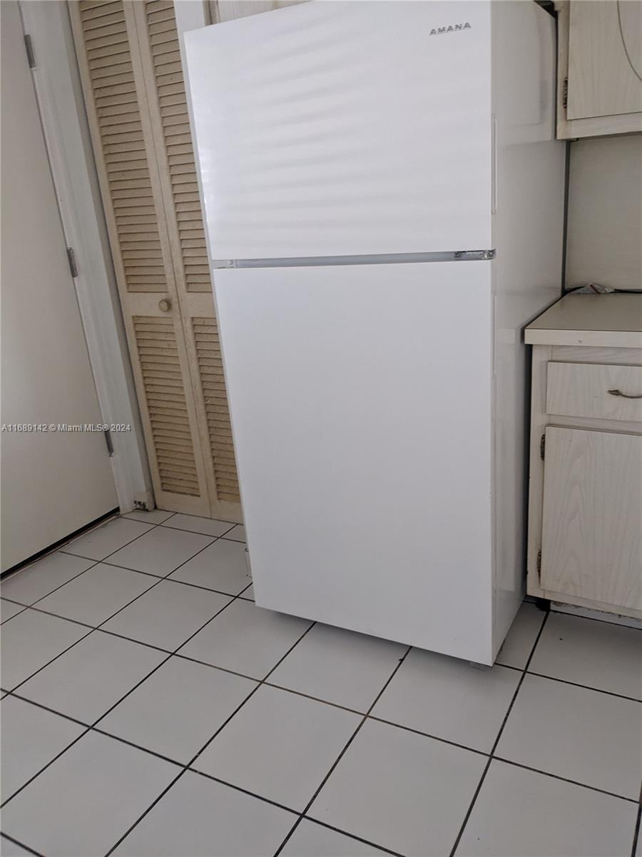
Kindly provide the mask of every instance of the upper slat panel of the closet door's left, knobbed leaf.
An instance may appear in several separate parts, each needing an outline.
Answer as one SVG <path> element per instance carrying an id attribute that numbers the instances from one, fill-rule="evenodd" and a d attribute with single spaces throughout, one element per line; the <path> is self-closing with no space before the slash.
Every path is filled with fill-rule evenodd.
<path id="1" fill-rule="evenodd" d="M 122 0 L 80 3 L 80 21 L 121 243 L 125 288 L 165 291 L 167 282 Z M 149 209 L 149 218 L 131 220 L 131 214 L 140 207 Z M 145 265 L 140 264 L 142 259 Z"/>

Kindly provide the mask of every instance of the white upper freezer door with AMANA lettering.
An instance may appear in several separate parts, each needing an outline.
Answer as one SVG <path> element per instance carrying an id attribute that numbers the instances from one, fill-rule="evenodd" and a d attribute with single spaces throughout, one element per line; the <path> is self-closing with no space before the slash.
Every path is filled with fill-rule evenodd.
<path id="1" fill-rule="evenodd" d="M 490 3 L 301 3 L 186 33 L 213 259 L 489 249 Z"/>

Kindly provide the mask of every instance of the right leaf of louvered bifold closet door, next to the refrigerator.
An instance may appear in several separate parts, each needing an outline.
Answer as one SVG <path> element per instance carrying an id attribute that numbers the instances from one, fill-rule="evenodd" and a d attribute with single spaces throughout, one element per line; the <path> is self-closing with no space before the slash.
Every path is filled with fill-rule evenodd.
<path id="1" fill-rule="evenodd" d="M 239 514 L 239 486 L 174 3 L 141 0 L 132 10 L 201 443 L 210 453 L 205 477 L 211 508 L 215 517 L 231 519 Z"/>

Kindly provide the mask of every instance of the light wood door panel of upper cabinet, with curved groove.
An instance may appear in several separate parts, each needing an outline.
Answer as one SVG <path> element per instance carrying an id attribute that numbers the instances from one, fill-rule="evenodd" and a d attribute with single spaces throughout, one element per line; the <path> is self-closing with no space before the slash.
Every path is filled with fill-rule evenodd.
<path id="1" fill-rule="evenodd" d="M 567 119 L 642 111 L 642 2 L 572 0 Z"/>

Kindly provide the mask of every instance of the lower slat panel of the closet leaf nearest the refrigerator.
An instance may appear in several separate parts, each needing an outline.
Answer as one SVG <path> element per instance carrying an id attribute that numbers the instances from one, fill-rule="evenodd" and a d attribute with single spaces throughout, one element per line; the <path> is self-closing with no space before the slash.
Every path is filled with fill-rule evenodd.
<path id="1" fill-rule="evenodd" d="M 241 498 L 236 476 L 232 426 L 225 392 L 217 320 L 195 318 L 193 332 L 217 491 L 222 500 L 238 503 Z"/>

